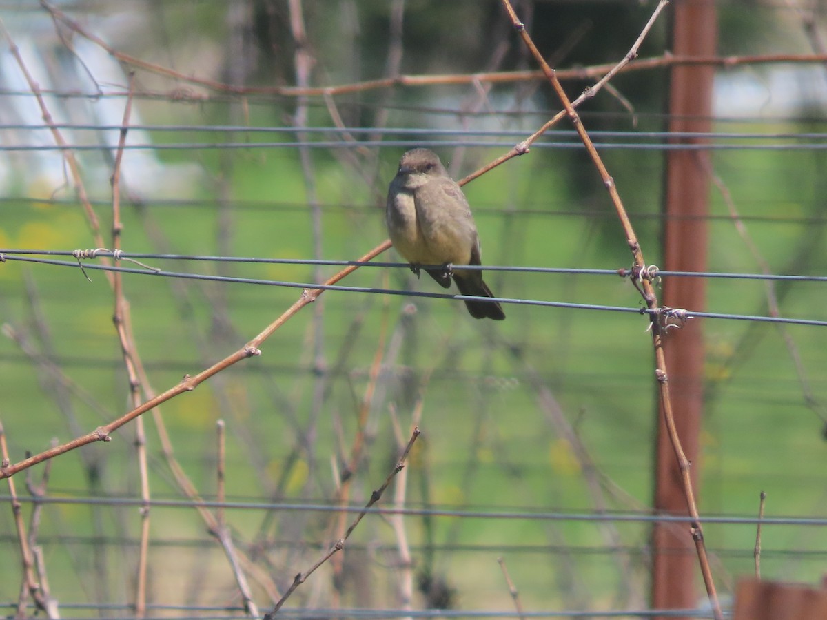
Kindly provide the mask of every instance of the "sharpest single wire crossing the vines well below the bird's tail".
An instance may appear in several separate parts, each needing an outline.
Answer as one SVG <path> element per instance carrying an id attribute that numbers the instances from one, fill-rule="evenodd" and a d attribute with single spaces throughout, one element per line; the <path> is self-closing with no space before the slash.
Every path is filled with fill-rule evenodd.
<path id="1" fill-rule="evenodd" d="M 12 501 L 9 495 L 0 495 L 0 503 Z M 696 520 L 690 516 L 675 514 L 649 513 L 561 513 L 540 510 L 462 510 L 450 508 L 385 508 L 373 506 L 325 503 L 274 503 L 274 502 L 218 502 L 209 499 L 160 499 L 152 498 L 117 498 L 117 497 L 17 497 L 17 501 L 31 504 L 55 505 L 94 505 L 94 506 L 150 506 L 155 508 L 225 508 L 227 510 L 272 510 L 282 512 L 307 513 L 361 513 L 391 515 L 399 514 L 416 517 L 462 517 L 469 519 L 523 520 L 523 521 L 562 521 L 562 522 L 635 522 L 635 523 L 692 523 Z M 827 517 L 748 517 L 734 515 L 705 515 L 702 523 L 719 525 L 788 525 L 797 527 L 827 526 Z"/>

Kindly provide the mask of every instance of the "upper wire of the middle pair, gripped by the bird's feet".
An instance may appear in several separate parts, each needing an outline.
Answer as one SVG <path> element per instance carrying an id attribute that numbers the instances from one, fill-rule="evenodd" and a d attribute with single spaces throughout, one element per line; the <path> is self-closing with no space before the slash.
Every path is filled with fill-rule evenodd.
<path id="1" fill-rule="evenodd" d="M 265 264 L 265 265 L 312 265 L 312 266 L 333 266 L 333 267 L 385 267 L 410 269 L 409 263 L 361 261 L 361 260 L 320 260 L 320 259 L 285 259 L 267 258 L 259 256 L 218 256 L 198 254 L 165 254 L 153 252 L 112 252 L 112 250 L 92 250 L 92 258 L 115 258 L 121 259 L 151 259 L 151 260 L 194 260 L 215 263 L 244 263 L 244 264 Z M 74 250 L 20 250 L 0 249 L 0 262 L 11 255 L 41 255 L 41 256 L 74 256 Z M 84 257 L 84 260 L 86 257 Z M 73 265 L 73 263 L 69 263 Z M 443 269 L 444 265 L 419 265 L 420 269 Z M 578 267 L 533 267 L 524 265 L 455 265 L 455 271 L 506 271 L 515 273 L 539 273 L 539 274 L 585 274 L 585 275 L 610 275 L 614 277 L 628 275 L 621 274 L 619 269 L 586 269 Z M 629 271 L 629 269 L 625 269 Z M 657 276 L 674 276 L 688 278 L 720 278 L 720 279 L 754 279 L 754 280 L 789 280 L 793 282 L 827 282 L 827 275 L 786 275 L 786 274 L 744 274 L 718 271 L 670 271 L 657 269 Z"/>

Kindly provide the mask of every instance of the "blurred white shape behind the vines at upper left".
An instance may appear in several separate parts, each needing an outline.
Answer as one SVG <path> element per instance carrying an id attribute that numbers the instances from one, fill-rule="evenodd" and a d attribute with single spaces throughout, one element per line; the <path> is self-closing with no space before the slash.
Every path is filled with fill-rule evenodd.
<path id="1" fill-rule="evenodd" d="M 86 147 L 75 150 L 74 155 L 82 166 L 88 193 L 93 198 L 110 198 L 112 164 L 120 137 L 117 127 L 123 121 L 127 103 L 128 75 L 106 50 L 82 36 L 71 38 L 69 50 L 42 10 L 4 21 L 64 141 Z M 141 16 L 130 13 L 84 26 L 106 38 L 110 29 L 121 30 L 128 24 L 134 27 L 136 21 L 141 21 Z M 66 30 L 64 34 L 71 36 Z M 123 96 L 99 96 L 102 93 Z M 190 196 L 203 180 L 200 166 L 168 165 L 160 160 L 157 150 L 151 148 L 149 132 L 136 128 L 142 125 L 139 100 L 133 102 L 129 124 L 133 128 L 127 133 L 127 145 L 146 148 L 124 152 L 122 192 L 138 199 Z M 69 170 L 55 145 L 20 64 L 8 45 L 0 46 L 0 195 L 74 196 Z M 88 150 L 90 146 L 100 148 Z"/>

